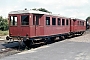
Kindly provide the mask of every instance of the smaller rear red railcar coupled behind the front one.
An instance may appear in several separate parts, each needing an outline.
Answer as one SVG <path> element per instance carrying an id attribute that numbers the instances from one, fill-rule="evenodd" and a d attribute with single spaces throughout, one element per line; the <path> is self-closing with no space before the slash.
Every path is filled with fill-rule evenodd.
<path id="1" fill-rule="evenodd" d="M 72 19 L 71 20 L 71 32 L 82 34 L 86 30 L 86 22 L 81 19 Z"/>

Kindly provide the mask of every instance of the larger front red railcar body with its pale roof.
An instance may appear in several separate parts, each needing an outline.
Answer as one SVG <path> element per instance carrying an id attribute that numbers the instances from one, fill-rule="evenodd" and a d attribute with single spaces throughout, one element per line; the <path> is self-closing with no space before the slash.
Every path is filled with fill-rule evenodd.
<path id="1" fill-rule="evenodd" d="M 35 11 L 9 13 L 9 35 L 50 36 L 70 32 L 70 19 Z"/>

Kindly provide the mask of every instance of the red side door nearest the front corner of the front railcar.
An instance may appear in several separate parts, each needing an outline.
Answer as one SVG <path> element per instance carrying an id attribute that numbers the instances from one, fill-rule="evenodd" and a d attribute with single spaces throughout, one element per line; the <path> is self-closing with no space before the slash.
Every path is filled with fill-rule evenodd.
<path id="1" fill-rule="evenodd" d="M 34 25 L 35 25 L 35 36 L 40 36 L 43 34 L 43 25 L 42 25 L 42 15 L 34 14 Z"/>

